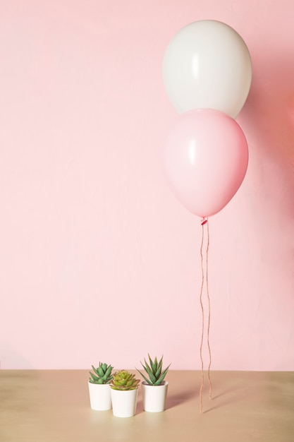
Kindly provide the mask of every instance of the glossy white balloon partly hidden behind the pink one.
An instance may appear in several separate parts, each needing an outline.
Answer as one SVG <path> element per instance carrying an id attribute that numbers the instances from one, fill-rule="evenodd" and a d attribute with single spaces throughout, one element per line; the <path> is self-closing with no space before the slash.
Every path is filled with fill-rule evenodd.
<path id="1" fill-rule="evenodd" d="M 250 53 L 242 37 L 225 23 L 195 21 L 169 42 L 163 78 L 178 113 L 210 108 L 235 118 L 250 90 Z"/>

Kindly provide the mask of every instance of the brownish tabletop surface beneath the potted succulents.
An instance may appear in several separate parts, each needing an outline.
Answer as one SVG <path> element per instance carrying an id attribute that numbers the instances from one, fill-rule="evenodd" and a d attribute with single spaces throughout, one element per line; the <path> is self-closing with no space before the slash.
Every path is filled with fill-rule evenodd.
<path id="1" fill-rule="evenodd" d="M 1 442 L 293 442 L 294 373 L 214 371 L 200 414 L 199 371 L 169 371 L 166 410 L 90 409 L 88 371 L 0 370 Z"/>

